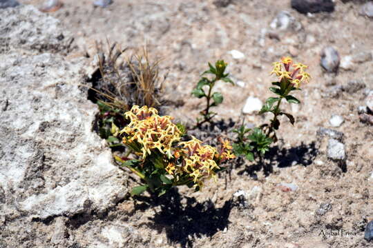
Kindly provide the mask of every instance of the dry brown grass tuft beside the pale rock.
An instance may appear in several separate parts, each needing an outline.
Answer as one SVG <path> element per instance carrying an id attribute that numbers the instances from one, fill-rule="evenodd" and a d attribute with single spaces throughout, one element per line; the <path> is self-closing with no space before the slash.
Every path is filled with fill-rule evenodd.
<path id="1" fill-rule="evenodd" d="M 162 88 L 160 61 L 150 59 L 147 47 L 128 59 L 122 58 L 125 51 L 117 43 L 108 43 L 108 53 L 105 54 L 103 45 L 97 44 L 98 67 L 92 75 L 90 99 L 124 111 L 133 105 L 159 107 Z"/>

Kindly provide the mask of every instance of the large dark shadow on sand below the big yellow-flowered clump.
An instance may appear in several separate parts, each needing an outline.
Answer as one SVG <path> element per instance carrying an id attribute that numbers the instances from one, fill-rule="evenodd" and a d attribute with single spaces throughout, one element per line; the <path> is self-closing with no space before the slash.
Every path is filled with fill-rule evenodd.
<path id="1" fill-rule="evenodd" d="M 232 200 L 227 200 L 222 207 L 215 207 L 211 200 L 198 203 L 194 197 L 180 196 L 178 189 L 171 189 L 160 198 L 142 198 L 142 203 L 136 208 L 154 206 L 160 206 L 160 211 L 155 211 L 153 218 L 149 218 L 151 228 L 159 233 L 166 231 L 171 244 L 193 247 L 195 238 L 211 237 L 227 227 L 233 204 Z"/>

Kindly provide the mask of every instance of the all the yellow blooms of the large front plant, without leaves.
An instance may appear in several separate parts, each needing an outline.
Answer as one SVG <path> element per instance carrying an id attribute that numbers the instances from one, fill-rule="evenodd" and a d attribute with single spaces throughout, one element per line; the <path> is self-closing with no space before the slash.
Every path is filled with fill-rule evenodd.
<path id="1" fill-rule="evenodd" d="M 154 150 L 164 154 L 166 157 L 160 160 L 176 184 L 193 180 L 194 187 L 202 188 L 204 179 L 216 180 L 218 163 L 235 158 L 229 141 L 220 141 L 219 152 L 211 145 L 202 145 L 202 141 L 193 136 L 191 141 L 180 142 L 182 132 L 172 123 L 171 116 L 159 116 L 152 107 L 134 105 L 125 117 L 131 123 L 121 131 L 126 134 L 123 143 L 129 147 L 135 145 L 143 160 Z"/>

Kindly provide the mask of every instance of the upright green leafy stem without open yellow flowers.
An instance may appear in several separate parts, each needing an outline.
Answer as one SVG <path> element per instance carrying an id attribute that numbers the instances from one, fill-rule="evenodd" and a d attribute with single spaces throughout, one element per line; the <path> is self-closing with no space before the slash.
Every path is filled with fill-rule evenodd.
<path id="1" fill-rule="evenodd" d="M 200 114 L 202 115 L 202 119 L 197 118 L 197 125 L 196 127 L 200 127 L 203 123 L 211 122 L 211 119 L 216 116 L 215 112 L 211 112 L 211 107 L 216 107 L 223 101 L 223 96 L 220 92 L 213 92 L 213 86 L 217 81 L 224 81 L 227 83 L 233 84 L 233 81 L 229 79 L 229 73 L 225 73 L 227 68 L 227 63 L 223 60 L 216 61 L 215 67 L 209 63 L 209 70 L 205 71 L 202 75 L 211 74 L 213 75 L 212 79 L 203 76 L 200 81 L 198 81 L 196 87 L 193 89 L 192 93 L 193 96 L 206 99 L 206 107 Z M 207 92 L 204 91 L 203 87 L 207 86 Z M 212 100 L 212 101 L 211 101 Z"/>

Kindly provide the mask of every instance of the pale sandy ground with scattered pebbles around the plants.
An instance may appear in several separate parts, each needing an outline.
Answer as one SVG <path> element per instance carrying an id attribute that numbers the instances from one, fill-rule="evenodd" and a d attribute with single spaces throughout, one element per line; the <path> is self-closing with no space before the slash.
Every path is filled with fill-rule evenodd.
<path id="1" fill-rule="evenodd" d="M 126 229 L 126 242 L 113 247 L 373 247 L 363 239 L 365 225 L 373 220 L 373 129 L 359 121 L 357 112 L 367 89 L 373 90 L 373 61 L 337 74 L 327 74 L 319 65 L 327 45 L 341 57 L 373 52 L 373 19 L 359 15 L 359 9 L 360 3 L 336 1 L 334 12 L 307 16 L 285 0 L 236 0 L 226 8 L 210 0 L 117 0 L 108 8 L 94 8 L 92 1 L 64 1 L 63 8 L 50 14 L 75 33 L 78 49 L 70 56 L 94 55 L 95 41 L 106 39 L 128 47 L 128 55 L 147 43 L 154 58 L 163 59 L 164 97 L 184 101 L 181 107 L 169 107 L 169 114 L 186 123 L 193 123 L 202 108 L 202 101 L 190 92 L 207 61 L 226 60 L 233 79 L 245 82 L 244 87 L 218 85 L 224 105 L 216 112 L 225 120 L 238 120 L 248 96 L 262 101 L 271 96 L 271 63 L 281 56 L 292 55 L 309 65 L 312 75 L 297 93 L 300 106 L 288 107 L 296 125 L 284 120 L 278 132 L 281 140 L 271 151 L 280 155 L 267 159 L 274 165 L 269 176 L 258 172 L 257 178 L 250 177 L 242 165 L 203 192 L 181 188 L 180 194 L 174 192 L 158 203 L 124 200 L 108 219 L 79 225 L 79 233 L 83 236 L 93 231 L 92 225 L 111 222 L 133 228 Z M 271 30 L 271 21 L 282 10 L 300 23 L 300 30 Z M 265 30 L 271 34 L 261 35 Z M 230 50 L 245 57 L 233 59 Z M 351 80 L 363 81 L 365 88 L 331 93 Z M 327 138 L 316 135 L 319 127 L 330 127 L 332 114 L 345 119 L 334 130 L 344 134 L 347 172 L 327 159 Z M 268 117 L 245 118 L 260 124 Z M 283 192 L 278 183 L 294 183 L 298 189 Z M 238 190 L 246 192 L 245 200 L 233 196 Z M 330 229 L 353 234 L 321 235 Z"/>

